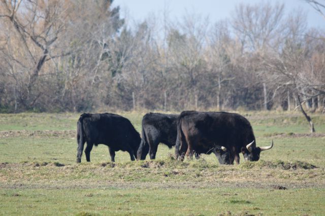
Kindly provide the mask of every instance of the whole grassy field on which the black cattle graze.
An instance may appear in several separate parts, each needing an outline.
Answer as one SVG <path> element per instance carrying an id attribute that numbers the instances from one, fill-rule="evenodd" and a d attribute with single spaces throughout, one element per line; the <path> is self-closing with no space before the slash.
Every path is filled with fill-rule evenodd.
<path id="1" fill-rule="evenodd" d="M 80 114 L 0 114 L 0 215 L 323 215 L 325 212 L 325 115 L 245 112 L 258 162 L 219 165 L 213 155 L 129 161 L 108 148 L 76 164 Z M 141 129 L 144 113 L 121 113 Z"/>

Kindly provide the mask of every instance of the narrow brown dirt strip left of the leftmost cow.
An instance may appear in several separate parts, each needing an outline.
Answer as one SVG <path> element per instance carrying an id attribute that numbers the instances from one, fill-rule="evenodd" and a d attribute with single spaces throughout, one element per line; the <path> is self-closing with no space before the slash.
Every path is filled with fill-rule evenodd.
<path id="1" fill-rule="evenodd" d="M 75 130 L 4 130 L 0 131 L 0 137 L 70 137 L 75 138 L 77 132 Z"/>

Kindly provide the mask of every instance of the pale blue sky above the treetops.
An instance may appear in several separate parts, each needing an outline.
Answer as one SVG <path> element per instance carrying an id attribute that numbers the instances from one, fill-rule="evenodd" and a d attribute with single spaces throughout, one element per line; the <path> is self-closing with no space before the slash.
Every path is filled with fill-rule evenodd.
<path id="1" fill-rule="evenodd" d="M 150 14 L 157 17 L 162 16 L 164 8 L 169 12 L 169 18 L 181 18 L 186 14 L 209 16 L 210 22 L 231 18 L 235 6 L 244 4 L 262 3 L 265 0 L 114 0 L 113 6 L 120 6 L 121 17 L 128 14 L 128 18 L 140 22 L 148 18 Z M 307 23 L 309 27 L 325 29 L 325 18 L 318 14 L 309 4 L 303 0 L 278 0 L 273 3 L 284 3 L 285 12 L 303 9 L 307 13 Z"/>

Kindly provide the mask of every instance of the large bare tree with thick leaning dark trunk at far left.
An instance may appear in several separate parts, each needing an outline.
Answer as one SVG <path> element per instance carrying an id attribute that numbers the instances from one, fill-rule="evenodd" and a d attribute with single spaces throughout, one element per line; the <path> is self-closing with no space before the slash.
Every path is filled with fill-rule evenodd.
<path id="1" fill-rule="evenodd" d="M 5 19 L 8 29 L 4 46 L 7 50 L 4 57 L 11 68 L 8 75 L 16 80 L 15 92 L 19 94 L 19 102 L 24 107 L 32 107 L 42 95 L 34 90 L 45 62 L 69 54 L 69 50 L 57 53 L 55 49 L 55 42 L 64 31 L 67 13 L 59 1 L 22 4 L 17 0 L 2 0 L 0 4 L 0 16 Z M 19 88 L 17 76 L 20 76 L 19 82 L 23 80 Z"/>

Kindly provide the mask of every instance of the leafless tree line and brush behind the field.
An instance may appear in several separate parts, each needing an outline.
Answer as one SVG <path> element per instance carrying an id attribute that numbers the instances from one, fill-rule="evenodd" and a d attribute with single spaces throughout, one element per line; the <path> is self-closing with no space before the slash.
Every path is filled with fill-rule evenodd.
<path id="1" fill-rule="evenodd" d="M 324 29 L 279 3 L 212 23 L 166 10 L 132 22 L 112 0 L 1 0 L 0 111 L 323 111 L 324 51 Z"/>

